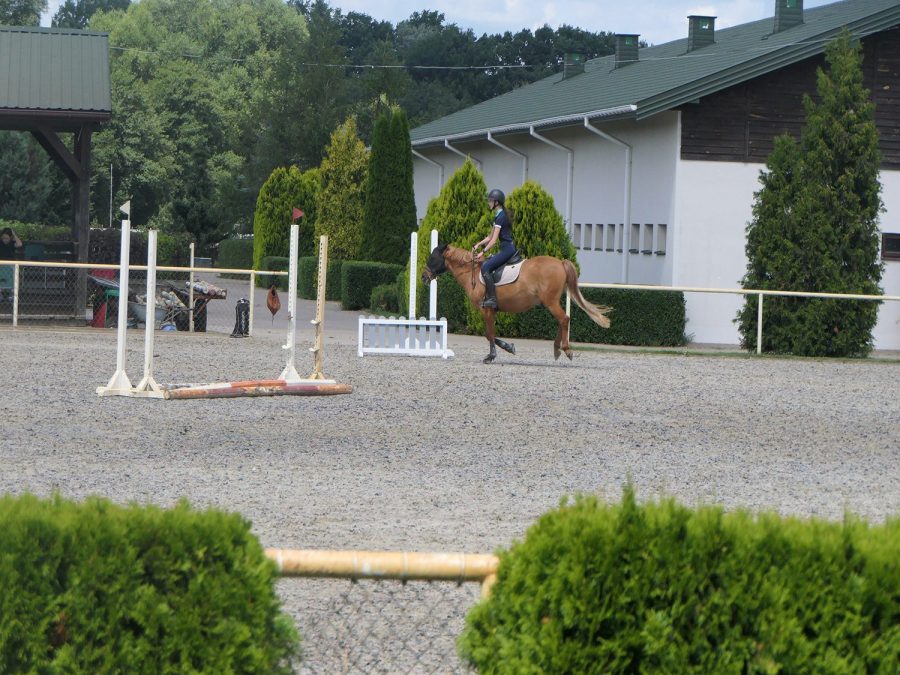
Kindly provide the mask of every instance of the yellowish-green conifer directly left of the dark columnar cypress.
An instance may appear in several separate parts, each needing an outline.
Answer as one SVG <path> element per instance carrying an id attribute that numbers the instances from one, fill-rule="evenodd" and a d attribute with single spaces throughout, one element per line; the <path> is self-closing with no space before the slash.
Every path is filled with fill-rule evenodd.
<path id="1" fill-rule="evenodd" d="M 359 258 L 368 160 L 351 116 L 331 134 L 319 167 L 316 236 L 328 235 L 328 256 L 333 260 Z"/>

